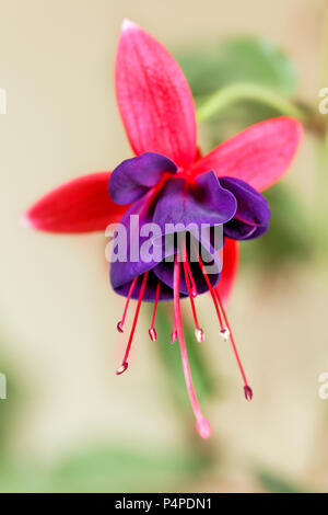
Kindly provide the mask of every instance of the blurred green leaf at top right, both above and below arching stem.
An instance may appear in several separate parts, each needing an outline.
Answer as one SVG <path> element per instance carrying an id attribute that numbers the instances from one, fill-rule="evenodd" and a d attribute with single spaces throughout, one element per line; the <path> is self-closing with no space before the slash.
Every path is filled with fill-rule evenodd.
<path id="1" fill-rule="evenodd" d="M 196 105 L 218 90 L 232 84 L 249 83 L 266 87 L 291 98 L 297 78 L 292 60 L 274 44 L 256 37 L 237 37 L 178 55 L 178 61 L 190 84 Z M 209 122 L 202 123 L 209 150 L 234 134 L 281 112 L 254 100 L 230 105 Z"/>

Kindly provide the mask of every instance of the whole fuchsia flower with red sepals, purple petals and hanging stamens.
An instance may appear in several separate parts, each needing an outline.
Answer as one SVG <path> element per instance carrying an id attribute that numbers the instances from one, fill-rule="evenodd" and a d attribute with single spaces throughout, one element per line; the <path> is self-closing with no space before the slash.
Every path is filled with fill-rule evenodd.
<path id="1" fill-rule="evenodd" d="M 194 390 L 180 313 L 180 299 L 188 297 L 198 341 L 204 339 L 195 306 L 197 294 L 209 291 L 221 335 L 231 340 L 244 380 L 248 386 L 229 325 L 224 302 L 237 270 L 237 241 L 257 238 L 269 224 L 270 210 L 259 193 L 288 170 L 302 136 L 297 121 L 277 117 L 259 123 L 201 157 L 197 148 L 194 101 L 187 81 L 167 50 L 141 27 L 125 21 L 116 59 L 116 93 L 122 122 L 137 157 L 120 163 L 114 172 L 99 172 L 68 182 L 38 201 L 25 215 L 34 229 L 50 232 L 104 230 L 120 222 L 130 228 L 130 215 L 141 226 L 156 222 L 165 233 L 166 222 L 223 226 L 223 270 L 220 249 L 213 249 L 209 233 L 206 251 L 213 251 L 215 272 L 207 273 L 197 240 L 188 233 L 181 247 L 173 245 L 172 263 L 113 263 L 114 289 L 127 297 L 118 330 L 124 331 L 131 298 L 138 299 L 127 350 L 117 375 L 128 367 L 128 356 L 143 300 L 153 301 L 150 336 L 156 339 L 155 316 L 160 300 L 174 300 L 172 342 L 179 341 L 187 388 L 200 436 L 208 437 L 210 424 L 203 417 Z M 109 181 L 109 186 L 108 186 Z M 108 194 L 109 187 L 109 194 Z M 187 248 L 188 242 L 188 248 Z M 190 260 L 190 249 L 197 262 Z M 203 250 L 203 249 L 202 249 Z M 211 253 L 212 255 L 212 253 Z M 163 255 L 163 258 L 167 258 Z"/>

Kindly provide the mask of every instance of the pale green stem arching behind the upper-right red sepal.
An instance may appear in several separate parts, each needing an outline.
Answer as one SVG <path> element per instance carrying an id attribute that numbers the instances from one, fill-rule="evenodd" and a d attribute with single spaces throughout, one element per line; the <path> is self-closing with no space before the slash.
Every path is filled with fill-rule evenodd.
<path id="1" fill-rule="evenodd" d="M 279 113 L 305 122 L 306 114 L 292 102 L 274 91 L 253 83 L 236 83 L 222 88 L 204 102 L 197 112 L 199 122 L 203 122 L 231 104 L 241 101 L 256 101 L 273 107 Z"/>

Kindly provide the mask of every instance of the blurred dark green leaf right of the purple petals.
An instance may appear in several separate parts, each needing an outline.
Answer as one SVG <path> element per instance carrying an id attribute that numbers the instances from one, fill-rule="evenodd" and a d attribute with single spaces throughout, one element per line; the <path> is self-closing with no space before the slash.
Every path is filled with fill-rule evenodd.
<path id="1" fill-rule="evenodd" d="M 314 249 L 313 231 L 304 205 L 285 184 L 276 184 L 263 195 L 272 213 L 270 227 L 261 238 L 243 245 L 244 261 L 278 267 L 309 259 Z"/>

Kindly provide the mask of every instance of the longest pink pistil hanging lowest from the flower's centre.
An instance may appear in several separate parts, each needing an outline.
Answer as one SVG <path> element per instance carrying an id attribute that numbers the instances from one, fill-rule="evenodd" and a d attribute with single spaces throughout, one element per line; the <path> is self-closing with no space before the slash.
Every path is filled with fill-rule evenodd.
<path id="1" fill-rule="evenodd" d="M 180 354 L 181 354 L 181 360 L 183 360 L 183 367 L 184 367 L 184 374 L 185 374 L 185 380 L 189 393 L 189 398 L 191 401 L 191 405 L 194 409 L 194 413 L 197 420 L 196 428 L 199 433 L 199 435 L 202 438 L 208 438 L 211 435 L 211 426 L 210 423 L 207 419 L 203 417 L 198 400 L 195 393 L 194 385 L 192 385 L 192 378 L 191 378 L 191 373 L 189 368 L 189 362 L 188 362 L 188 355 L 187 355 L 187 348 L 186 348 L 186 343 L 185 343 L 185 337 L 184 337 L 184 330 L 183 330 L 183 320 L 181 320 L 181 311 L 180 311 L 180 263 L 178 261 L 178 255 L 175 255 L 175 262 L 174 262 L 174 310 L 175 310 L 175 321 L 176 321 L 176 327 L 177 327 L 177 334 L 179 339 L 179 345 L 180 345 Z"/>

